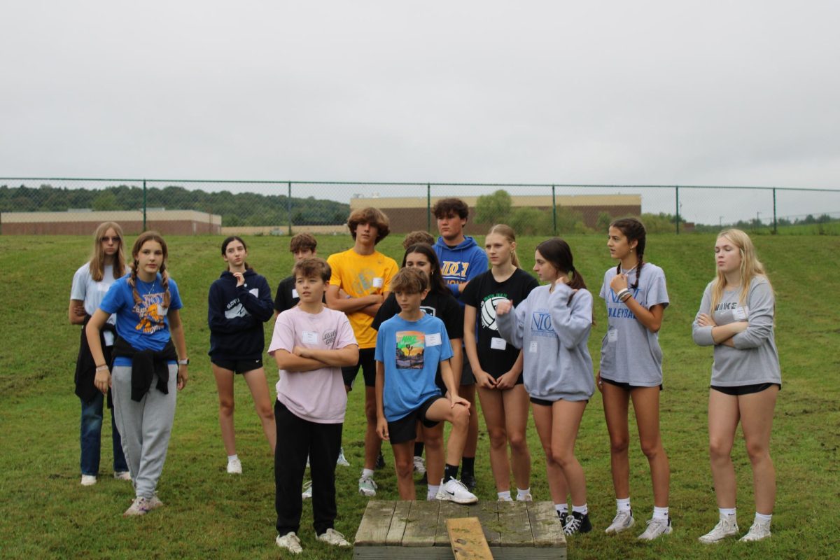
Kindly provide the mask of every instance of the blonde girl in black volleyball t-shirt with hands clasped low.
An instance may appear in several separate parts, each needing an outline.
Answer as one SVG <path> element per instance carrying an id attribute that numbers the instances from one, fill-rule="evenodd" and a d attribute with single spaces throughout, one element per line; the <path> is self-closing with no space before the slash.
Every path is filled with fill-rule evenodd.
<path id="1" fill-rule="evenodd" d="M 498 500 L 511 501 L 511 467 L 517 500 L 530 501 L 531 454 L 528 427 L 528 393 L 522 385 L 522 352 L 501 338 L 496 325 L 500 301 L 519 305 L 539 283 L 519 268 L 516 235 L 504 224 L 493 226 L 485 238 L 491 268 L 476 276 L 461 295 L 464 301 L 464 340 L 475 374 L 481 411 L 490 435 L 490 466 Z M 480 316 L 478 337 L 476 318 Z M 507 447 L 511 448 L 508 463 Z"/>

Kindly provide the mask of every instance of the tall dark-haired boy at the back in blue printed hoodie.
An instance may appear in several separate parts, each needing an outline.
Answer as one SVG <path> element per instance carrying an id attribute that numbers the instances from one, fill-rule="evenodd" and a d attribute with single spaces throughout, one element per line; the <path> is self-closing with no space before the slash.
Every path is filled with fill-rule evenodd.
<path id="1" fill-rule="evenodd" d="M 434 244 L 434 251 L 440 260 L 440 271 L 444 280 L 452 290 L 452 295 L 458 300 L 461 308 L 461 293 L 467 283 L 487 270 L 487 254 L 481 249 L 474 238 L 464 235 L 464 226 L 470 217 L 470 207 L 459 198 L 443 198 L 432 208 L 434 217 L 438 221 L 440 237 Z M 470 401 L 475 410 L 475 376 L 470 367 L 470 360 L 465 359 L 461 371 L 454 372 L 459 385 L 460 395 Z M 478 447 L 478 415 L 470 416 L 470 435 L 464 449 L 464 467 L 461 469 L 461 480 L 467 488 L 475 489 L 475 448 Z"/>

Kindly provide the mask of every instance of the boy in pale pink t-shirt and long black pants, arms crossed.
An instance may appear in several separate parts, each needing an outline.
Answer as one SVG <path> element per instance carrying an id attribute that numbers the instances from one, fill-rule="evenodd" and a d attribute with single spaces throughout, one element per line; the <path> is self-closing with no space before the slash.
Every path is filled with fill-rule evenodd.
<path id="1" fill-rule="evenodd" d="M 329 265 L 323 259 L 302 259 L 295 264 L 293 275 L 300 303 L 277 317 L 268 352 L 280 368 L 274 405 L 276 544 L 297 554 L 302 552 L 297 531 L 307 457 L 318 540 L 350 546 L 344 535 L 333 529 L 337 515 L 335 462 L 347 408 L 341 368 L 359 361 L 359 347 L 344 313 L 323 305 Z"/>

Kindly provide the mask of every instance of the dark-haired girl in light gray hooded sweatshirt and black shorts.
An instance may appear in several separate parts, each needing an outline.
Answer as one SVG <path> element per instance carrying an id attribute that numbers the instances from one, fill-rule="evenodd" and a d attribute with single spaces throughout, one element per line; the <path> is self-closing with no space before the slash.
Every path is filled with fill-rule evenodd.
<path id="1" fill-rule="evenodd" d="M 535 288 L 516 310 L 512 301 L 496 307 L 499 332 L 524 356 L 525 390 L 545 451 L 554 509 L 573 535 L 592 530 L 586 479 L 575 458 L 580 420 L 592 394 L 592 359 L 586 341 L 592 327 L 592 295 L 575 270 L 569 244 L 559 238 L 537 245 L 533 270 L 548 282 Z M 572 496 L 568 515 L 566 496 Z"/>

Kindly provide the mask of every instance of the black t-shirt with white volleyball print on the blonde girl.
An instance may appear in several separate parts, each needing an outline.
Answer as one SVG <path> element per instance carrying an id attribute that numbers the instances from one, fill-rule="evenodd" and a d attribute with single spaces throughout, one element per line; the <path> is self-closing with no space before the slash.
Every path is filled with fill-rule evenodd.
<path id="1" fill-rule="evenodd" d="M 496 306 L 503 300 L 512 300 L 513 305 L 518 306 L 538 285 L 539 282 L 522 269 L 515 270 L 510 278 L 501 283 L 493 278 L 492 270 L 487 270 L 470 280 L 461 294 L 461 301 L 465 305 L 475 307 L 478 361 L 481 369 L 493 377 L 507 374 L 519 356 L 519 348 L 514 348 L 499 334 Z"/>

